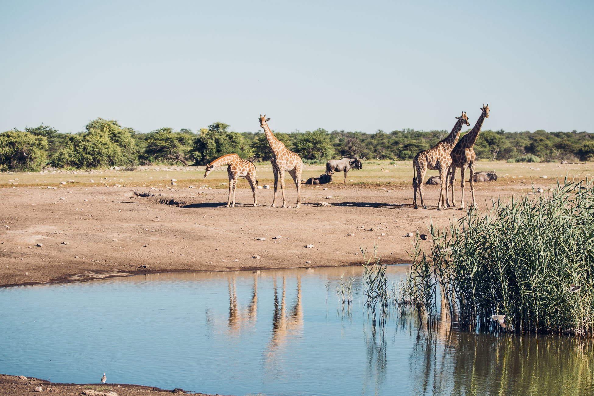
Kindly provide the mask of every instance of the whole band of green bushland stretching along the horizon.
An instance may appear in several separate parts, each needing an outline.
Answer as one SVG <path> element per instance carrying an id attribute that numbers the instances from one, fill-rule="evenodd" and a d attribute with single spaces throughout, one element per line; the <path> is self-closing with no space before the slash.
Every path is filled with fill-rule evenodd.
<path id="1" fill-rule="evenodd" d="M 277 132 L 276 137 L 305 162 L 336 157 L 409 160 L 432 147 L 448 131 L 402 129 L 386 133 L 331 131 Z M 475 144 L 479 159 L 510 162 L 588 161 L 594 159 L 594 136 L 588 132 L 482 131 Z M 47 125 L 0 134 L 0 169 L 38 170 L 44 166 L 97 168 L 135 164 L 205 164 L 223 154 L 269 160 L 264 132 L 234 132 L 214 122 L 197 132 L 164 127 L 137 132 L 117 121 L 98 118 L 85 131 L 64 134 Z"/>

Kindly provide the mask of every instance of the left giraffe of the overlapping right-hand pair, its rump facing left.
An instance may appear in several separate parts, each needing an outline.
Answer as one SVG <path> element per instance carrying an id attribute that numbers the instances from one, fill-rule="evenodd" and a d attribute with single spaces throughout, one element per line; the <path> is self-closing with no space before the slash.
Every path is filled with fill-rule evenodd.
<path id="1" fill-rule="evenodd" d="M 451 150 L 456 145 L 458 138 L 460 137 L 460 130 L 462 129 L 462 124 L 466 124 L 469 126 L 470 123 L 468 122 L 468 118 L 466 116 L 466 112 L 462 112 L 462 115 L 456 117 L 456 125 L 451 130 L 450 134 L 447 137 L 438 142 L 437 145 L 433 148 L 429 148 L 429 150 L 421 151 L 420 153 L 416 154 L 415 158 L 412 160 L 412 187 L 415 189 L 415 198 L 413 199 L 413 205 L 415 205 L 415 209 L 417 209 L 416 205 L 416 189 L 419 189 L 419 197 L 421 197 L 421 205 L 424 209 L 427 207 L 423 202 L 423 182 L 425 180 L 425 173 L 427 169 L 431 170 L 439 170 L 440 171 L 440 178 L 441 178 L 441 189 L 440 189 L 440 199 L 437 202 L 437 210 L 441 210 L 441 203 L 444 204 L 444 209 L 447 209 L 447 205 L 445 205 L 445 197 L 444 193 L 447 195 L 446 191 L 446 175 L 447 171 L 450 167 L 451 157 L 450 153 Z M 415 177 L 415 170 L 416 176 Z"/>

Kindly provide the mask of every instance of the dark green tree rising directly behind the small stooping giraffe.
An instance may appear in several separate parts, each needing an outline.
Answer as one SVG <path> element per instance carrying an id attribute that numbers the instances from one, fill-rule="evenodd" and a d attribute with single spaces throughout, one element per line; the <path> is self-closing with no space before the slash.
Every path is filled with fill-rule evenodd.
<path id="1" fill-rule="evenodd" d="M 236 153 L 239 157 L 250 158 L 254 151 L 245 144 L 241 134 L 229 131 L 229 125 L 215 122 L 208 128 L 200 129 L 200 134 L 194 140 L 192 155 L 198 165 L 216 159 L 224 154 Z"/>

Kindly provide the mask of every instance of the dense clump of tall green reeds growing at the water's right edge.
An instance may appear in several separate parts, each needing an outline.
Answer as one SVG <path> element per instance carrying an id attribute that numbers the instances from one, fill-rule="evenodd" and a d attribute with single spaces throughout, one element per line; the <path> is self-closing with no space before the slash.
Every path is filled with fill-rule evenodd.
<path id="1" fill-rule="evenodd" d="M 594 184 L 557 182 L 553 191 L 492 200 L 450 227 L 431 224 L 431 253 L 418 242 L 407 291 L 428 319 L 444 293 L 451 320 L 465 328 L 594 335 Z M 580 286 L 572 293 L 570 284 Z"/>

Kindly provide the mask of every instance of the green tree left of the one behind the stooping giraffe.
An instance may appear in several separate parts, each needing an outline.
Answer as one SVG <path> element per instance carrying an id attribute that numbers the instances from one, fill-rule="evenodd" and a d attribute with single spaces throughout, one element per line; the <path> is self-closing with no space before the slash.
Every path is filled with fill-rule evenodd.
<path id="1" fill-rule="evenodd" d="M 189 129 L 173 132 L 171 128 L 160 128 L 147 135 L 144 153 L 157 160 L 179 161 L 187 166 L 186 157 L 193 141 L 194 134 Z"/>

